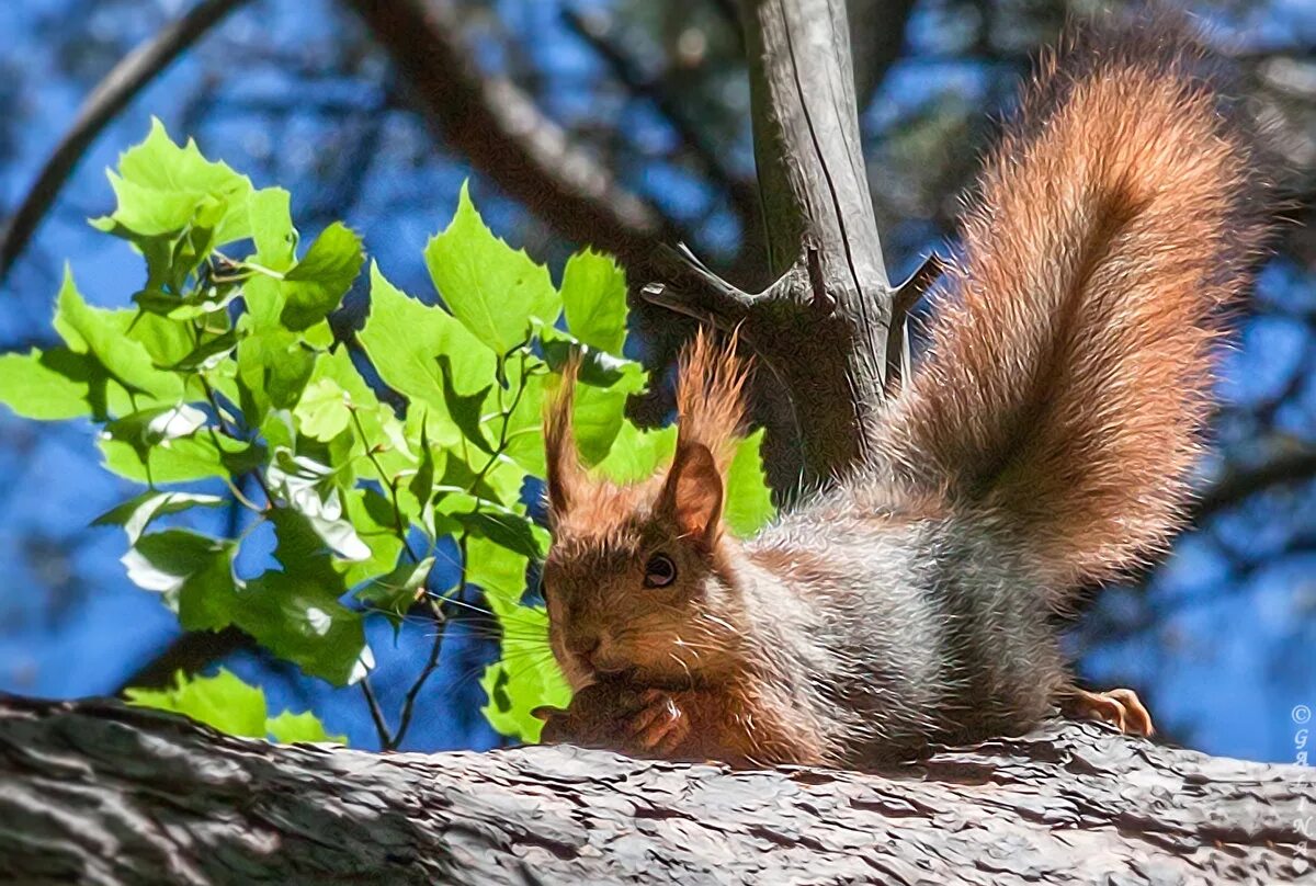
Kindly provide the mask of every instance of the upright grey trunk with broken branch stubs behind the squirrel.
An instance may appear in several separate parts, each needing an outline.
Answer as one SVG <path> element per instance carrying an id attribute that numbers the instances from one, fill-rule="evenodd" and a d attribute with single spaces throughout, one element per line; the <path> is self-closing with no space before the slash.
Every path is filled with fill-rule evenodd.
<path id="1" fill-rule="evenodd" d="M 803 475 L 825 482 L 863 459 L 873 416 L 900 373 L 912 288 L 892 287 L 869 194 L 845 0 L 744 0 L 754 158 L 767 225 L 767 290 L 749 294 L 688 253 L 699 283 L 645 296 L 725 329 L 795 405 Z M 892 22 L 903 24 L 899 14 Z"/>

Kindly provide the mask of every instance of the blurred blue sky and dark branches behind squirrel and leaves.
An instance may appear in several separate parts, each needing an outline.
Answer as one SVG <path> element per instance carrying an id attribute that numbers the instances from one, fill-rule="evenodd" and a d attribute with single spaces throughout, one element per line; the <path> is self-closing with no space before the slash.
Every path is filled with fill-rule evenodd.
<path id="1" fill-rule="evenodd" d="M 86 220 L 112 207 L 105 167 L 151 116 L 257 186 L 288 188 L 304 237 L 346 221 L 409 292 L 429 291 L 421 250 L 467 178 L 495 230 L 554 274 L 582 242 L 625 257 L 683 240 L 745 288 L 765 282 L 733 0 L 433 0 L 429 30 L 357 12 L 384 5 L 0 4 L 0 228 L 32 229 L 5 255 L 0 350 L 53 340 L 66 262 L 91 301 L 128 304 L 141 259 Z M 1291 761 L 1294 711 L 1316 707 L 1316 4 L 1188 5 L 1238 59 L 1291 199 L 1234 317 L 1190 531 L 1165 563 L 1096 595 L 1067 644 L 1092 683 L 1134 687 L 1170 740 Z M 1032 54 L 1088 4 L 851 7 L 869 176 L 892 279 L 903 279 L 929 249 L 951 246 L 957 197 Z M 66 151 L 68 174 L 57 169 L 33 200 L 88 95 L 143 46 L 145 86 L 88 130 L 86 150 Z M 601 196 L 580 196 L 580 182 L 603 183 Z M 637 320 L 647 358 L 670 355 L 671 319 Z M 122 534 L 88 524 L 136 488 L 100 469 L 89 424 L 0 408 L 0 690 L 113 694 L 222 665 L 262 685 L 271 710 L 311 707 L 330 732 L 378 745 L 359 692 L 275 664 L 241 635 L 182 635 L 126 579 Z M 217 513 L 212 531 L 234 519 Z M 395 640 L 386 624 L 371 638 L 372 682 L 393 708 L 429 638 L 404 628 Z M 408 748 L 499 743 L 476 682 L 495 652 L 455 629 Z"/>

